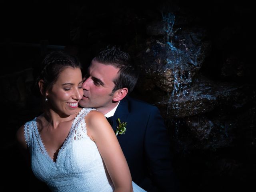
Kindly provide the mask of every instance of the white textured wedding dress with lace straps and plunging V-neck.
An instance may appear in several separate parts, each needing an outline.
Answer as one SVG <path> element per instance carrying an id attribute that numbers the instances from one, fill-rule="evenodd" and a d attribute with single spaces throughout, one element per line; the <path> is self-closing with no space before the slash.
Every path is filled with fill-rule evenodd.
<path id="1" fill-rule="evenodd" d="M 48 155 L 38 132 L 36 118 L 25 124 L 32 171 L 54 192 L 112 192 L 108 175 L 96 144 L 88 137 L 84 117 L 92 109 L 82 109 L 73 121 L 56 162 Z"/>

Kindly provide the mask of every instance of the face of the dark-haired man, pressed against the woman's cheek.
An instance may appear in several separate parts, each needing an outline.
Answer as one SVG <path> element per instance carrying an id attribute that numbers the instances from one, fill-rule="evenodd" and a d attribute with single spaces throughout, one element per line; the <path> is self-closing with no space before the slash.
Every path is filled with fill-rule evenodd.
<path id="1" fill-rule="evenodd" d="M 84 108 L 96 108 L 103 114 L 114 108 L 112 90 L 115 86 L 114 79 L 119 69 L 112 65 L 104 65 L 92 60 L 88 68 L 82 88 L 84 95 L 80 100 L 80 106 Z"/>

